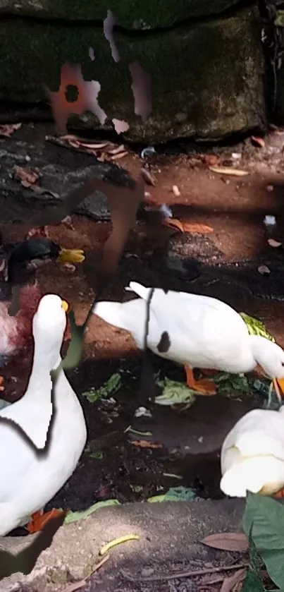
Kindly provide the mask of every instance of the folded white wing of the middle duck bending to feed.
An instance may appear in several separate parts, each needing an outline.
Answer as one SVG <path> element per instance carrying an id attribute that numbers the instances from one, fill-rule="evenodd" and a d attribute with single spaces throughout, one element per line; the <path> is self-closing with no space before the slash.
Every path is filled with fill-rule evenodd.
<path id="1" fill-rule="evenodd" d="M 137 282 L 130 282 L 129 289 L 144 301 L 152 291 Z M 247 353 L 245 322 L 233 308 L 209 296 L 154 289 L 147 342 L 156 354 L 163 332 L 171 342 L 163 357 L 191 366 L 234 371 L 236 361 Z"/>

